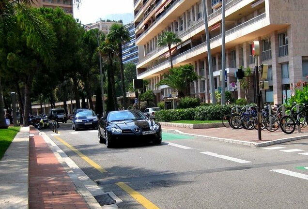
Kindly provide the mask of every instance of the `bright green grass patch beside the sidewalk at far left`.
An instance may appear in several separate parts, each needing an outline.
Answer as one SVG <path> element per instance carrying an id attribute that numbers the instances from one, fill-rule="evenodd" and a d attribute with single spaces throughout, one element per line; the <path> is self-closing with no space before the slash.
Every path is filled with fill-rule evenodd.
<path id="1" fill-rule="evenodd" d="M 19 130 L 20 127 L 8 127 L 8 129 L 0 129 L 0 159 L 4 155 L 6 149 L 10 146 Z"/>

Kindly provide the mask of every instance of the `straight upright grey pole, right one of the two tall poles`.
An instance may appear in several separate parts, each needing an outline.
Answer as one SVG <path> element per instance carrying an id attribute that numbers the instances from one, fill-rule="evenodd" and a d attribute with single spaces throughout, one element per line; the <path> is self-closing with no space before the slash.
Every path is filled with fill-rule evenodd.
<path id="1" fill-rule="evenodd" d="M 226 78 L 225 78 L 225 70 L 226 70 L 226 53 L 225 53 L 225 0 L 222 0 L 222 18 L 221 18 L 221 105 L 225 104 L 225 90 L 226 90 Z"/>

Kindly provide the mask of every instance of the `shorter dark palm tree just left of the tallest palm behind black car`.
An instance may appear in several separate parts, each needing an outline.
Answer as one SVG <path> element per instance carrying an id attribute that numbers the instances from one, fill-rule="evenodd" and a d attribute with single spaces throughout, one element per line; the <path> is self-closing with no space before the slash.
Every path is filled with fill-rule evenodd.
<path id="1" fill-rule="evenodd" d="M 117 104 L 117 96 L 116 96 L 116 90 L 115 90 L 115 81 L 114 81 L 114 70 L 113 70 L 113 57 L 116 53 L 116 46 L 109 42 L 107 39 L 102 43 L 102 45 L 98 48 L 99 53 L 102 57 L 106 57 L 109 63 L 109 68 L 107 71 L 107 78 L 108 78 L 108 89 L 111 90 L 111 95 L 109 95 L 108 91 L 108 104 L 110 104 L 110 100 L 112 101 L 113 108 L 111 106 L 107 105 L 107 110 L 118 110 L 118 104 Z"/>

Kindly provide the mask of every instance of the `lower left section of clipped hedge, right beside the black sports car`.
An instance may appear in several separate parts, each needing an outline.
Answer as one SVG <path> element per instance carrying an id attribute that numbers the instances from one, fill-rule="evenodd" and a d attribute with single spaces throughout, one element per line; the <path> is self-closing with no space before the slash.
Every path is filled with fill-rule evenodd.
<path id="1" fill-rule="evenodd" d="M 194 120 L 195 108 L 168 109 L 155 112 L 155 119 L 161 122 L 174 120 Z"/>

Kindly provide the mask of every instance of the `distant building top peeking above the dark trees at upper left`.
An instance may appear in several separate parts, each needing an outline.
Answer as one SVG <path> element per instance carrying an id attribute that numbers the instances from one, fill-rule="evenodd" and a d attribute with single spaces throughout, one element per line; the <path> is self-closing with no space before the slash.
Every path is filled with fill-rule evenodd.
<path id="1" fill-rule="evenodd" d="M 34 1 L 35 7 L 60 7 L 66 14 L 73 15 L 73 0 L 36 0 Z"/>

